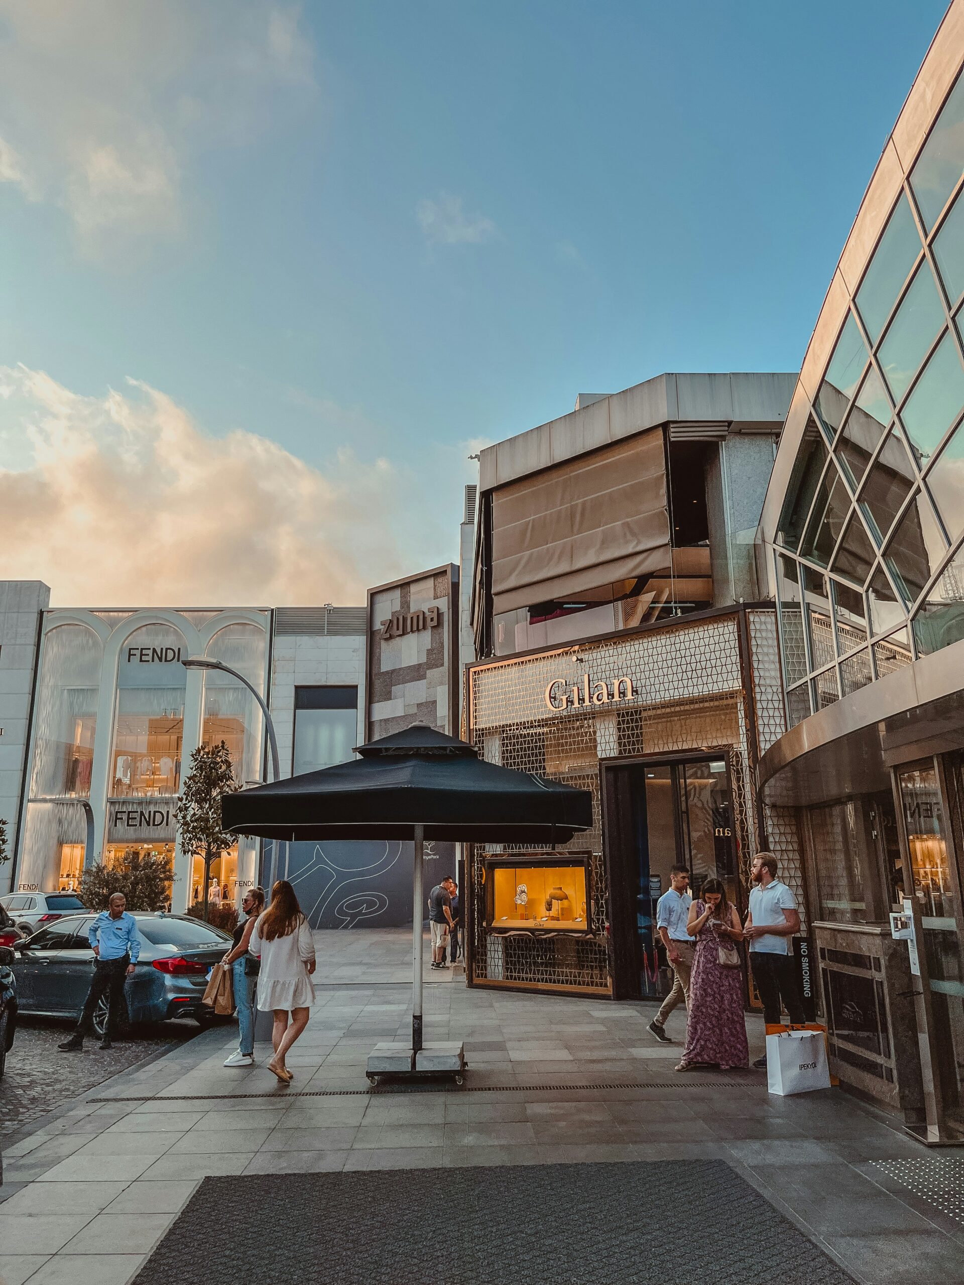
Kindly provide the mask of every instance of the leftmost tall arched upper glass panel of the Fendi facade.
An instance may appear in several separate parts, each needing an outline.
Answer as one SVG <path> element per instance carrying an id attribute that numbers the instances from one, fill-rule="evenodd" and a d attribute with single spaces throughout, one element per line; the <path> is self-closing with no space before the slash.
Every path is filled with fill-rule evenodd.
<path id="1" fill-rule="evenodd" d="M 35 711 L 32 795 L 90 794 L 104 649 L 85 625 L 60 625 L 44 639 Z"/>

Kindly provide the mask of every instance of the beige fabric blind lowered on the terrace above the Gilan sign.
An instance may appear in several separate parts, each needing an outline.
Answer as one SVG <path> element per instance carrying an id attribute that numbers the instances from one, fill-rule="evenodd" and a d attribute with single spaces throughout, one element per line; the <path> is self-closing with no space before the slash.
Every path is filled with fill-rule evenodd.
<path id="1" fill-rule="evenodd" d="M 658 571 L 670 571 L 662 428 L 492 492 L 496 616 Z"/>

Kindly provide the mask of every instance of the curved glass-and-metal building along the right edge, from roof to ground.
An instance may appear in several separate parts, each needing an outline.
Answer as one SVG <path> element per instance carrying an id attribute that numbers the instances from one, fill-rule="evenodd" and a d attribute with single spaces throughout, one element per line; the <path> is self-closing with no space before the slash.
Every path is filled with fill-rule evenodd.
<path id="1" fill-rule="evenodd" d="M 834 1068 L 964 1133 L 964 4 L 887 140 L 810 342 L 761 520 L 790 807 Z M 911 930 L 911 948 L 892 935 Z"/>

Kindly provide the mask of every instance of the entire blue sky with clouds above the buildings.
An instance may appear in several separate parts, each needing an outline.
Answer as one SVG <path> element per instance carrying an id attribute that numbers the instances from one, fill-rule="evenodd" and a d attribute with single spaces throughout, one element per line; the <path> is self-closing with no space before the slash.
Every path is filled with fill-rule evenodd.
<path id="1" fill-rule="evenodd" d="M 0 0 L 4 574 L 189 605 L 454 556 L 580 391 L 796 369 L 945 4 L 81 8 Z"/>

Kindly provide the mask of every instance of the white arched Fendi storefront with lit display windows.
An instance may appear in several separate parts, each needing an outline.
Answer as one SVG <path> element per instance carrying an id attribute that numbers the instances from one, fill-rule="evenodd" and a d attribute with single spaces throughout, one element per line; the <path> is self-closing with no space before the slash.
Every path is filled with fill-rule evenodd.
<path id="1" fill-rule="evenodd" d="M 270 612 L 67 610 L 42 613 L 37 680 L 14 887 L 73 891 L 84 871 L 85 807 L 95 860 L 125 852 L 167 857 L 171 902 L 201 894 L 203 862 L 177 851 L 174 808 L 202 741 L 224 740 L 242 781 L 262 779 L 263 720 L 230 675 L 181 660 L 222 660 L 265 690 Z M 256 840 L 240 839 L 212 865 L 234 901 L 253 882 Z"/>

